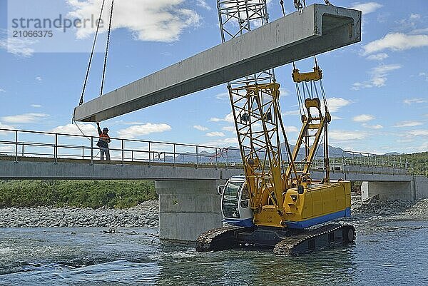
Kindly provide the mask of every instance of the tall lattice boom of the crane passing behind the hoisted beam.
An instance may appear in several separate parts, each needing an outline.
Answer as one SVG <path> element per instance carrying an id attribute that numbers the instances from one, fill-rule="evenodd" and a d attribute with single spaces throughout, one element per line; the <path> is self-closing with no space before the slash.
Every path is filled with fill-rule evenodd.
<path id="1" fill-rule="evenodd" d="M 222 41 L 234 39 L 269 21 L 266 0 L 218 0 Z M 280 85 L 273 69 L 228 83 L 251 207 L 260 210 L 263 196 L 284 212 L 281 139 L 287 144 L 279 106 Z M 282 127 L 282 130 L 278 130 Z M 281 132 L 282 131 L 282 132 Z M 288 154 L 291 157 L 290 148 Z M 283 183 L 284 182 L 284 183 Z M 267 192 L 265 190 L 268 190 Z"/>

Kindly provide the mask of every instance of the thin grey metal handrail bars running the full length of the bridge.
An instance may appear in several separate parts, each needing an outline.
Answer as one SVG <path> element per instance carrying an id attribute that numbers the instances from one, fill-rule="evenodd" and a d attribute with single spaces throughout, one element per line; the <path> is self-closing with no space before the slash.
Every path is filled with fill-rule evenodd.
<path id="1" fill-rule="evenodd" d="M 0 153 L 3 154 L 11 154 L 14 155 L 16 162 L 19 160 L 19 157 L 24 157 L 24 155 L 30 155 L 30 156 L 49 156 L 49 158 L 54 157 L 55 162 L 58 161 L 58 158 L 90 158 L 91 163 L 93 163 L 93 160 L 97 157 L 98 154 L 96 152 L 98 151 L 98 147 L 94 146 L 94 141 L 96 142 L 98 140 L 98 136 L 83 136 L 83 135 L 76 135 L 76 134 L 65 134 L 65 133 L 52 133 L 52 132 L 46 132 L 46 131 L 26 131 L 26 130 L 16 130 L 16 129 L 8 129 L 8 128 L 0 128 L 0 132 L 10 132 L 11 135 L 14 135 L 14 140 L 4 140 L 0 141 L 0 145 L 14 145 L 15 150 L 5 150 L 0 151 Z M 54 136 L 53 143 L 36 143 L 31 141 L 19 141 L 19 135 L 21 134 L 36 134 L 36 135 L 44 135 L 44 136 Z M 62 144 L 58 143 L 58 137 L 63 136 L 66 138 L 86 138 L 90 143 L 88 145 L 71 145 L 71 144 Z M 183 159 L 183 163 L 193 163 L 195 164 L 195 167 L 198 168 L 198 165 L 215 165 L 216 168 L 218 168 L 218 165 L 224 165 L 226 168 L 228 166 L 233 165 L 242 165 L 242 160 L 240 158 L 240 155 L 238 157 L 234 157 L 233 155 L 229 154 L 230 148 L 218 148 L 213 146 L 207 146 L 207 145 L 196 145 L 196 144 L 189 144 L 189 143 L 170 143 L 170 142 L 162 142 L 162 141 L 146 141 L 146 140 L 139 140 L 139 139 L 125 139 L 125 138 L 111 138 L 112 140 L 119 142 L 121 147 L 120 148 L 109 148 L 112 155 L 111 159 L 117 159 L 120 160 L 121 163 L 125 163 L 127 161 L 147 161 L 149 165 L 151 165 L 152 162 L 160 162 L 163 160 L 163 162 L 173 163 L 174 166 L 178 163 L 178 156 L 181 156 Z M 145 144 L 143 148 L 126 148 L 126 143 L 141 143 Z M 164 145 L 165 147 L 168 147 L 168 149 L 171 149 L 171 151 L 168 150 L 156 150 L 156 148 L 153 148 L 153 145 Z M 53 148 L 53 153 L 35 153 L 30 152 L 27 148 L 24 147 L 39 147 L 39 148 Z M 195 148 L 195 152 L 177 152 L 178 147 L 183 148 Z M 21 152 L 19 152 L 19 149 L 21 149 Z M 58 153 L 62 149 L 68 149 L 68 150 L 81 150 L 81 153 L 79 155 L 76 155 L 75 153 Z M 143 150 L 141 150 L 143 149 Z M 147 150 L 144 150 L 147 149 Z M 165 149 L 165 148 L 162 148 Z M 210 149 L 213 150 L 212 153 L 200 153 L 200 150 L 204 149 Z M 94 153 L 95 150 L 95 153 Z M 233 148 L 233 150 L 238 151 L 238 148 Z M 113 153 L 121 153 L 120 156 L 114 156 Z M 87 153 L 90 153 L 89 155 Z M 131 153 L 131 154 L 129 154 Z M 137 154 L 137 155 L 135 155 Z M 148 155 L 147 158 L 144 157 L 141 158 L 139 154 L 146 154 Z M 131 156 L 129 156 L 131 155 Z M 161 156 L 163 156 L 163 159 L 161 159 Z M 287 158 L 286 153 L 282 154 L 282 158 Z M 139 158 L 138 158 L 139 157 Z M 156 158 L 157 157 L 157 158 Z M 185 157 L 187 158 L 194 158 L 195 161 L 190 162 L 184 162 Z M 168 160 L 167 160 L 168 158 Z M 203 162 L 203 158 L 207 159 L 207 162 Z M 219 160 L 219 158 L 222 158 L 222 160 Z M 332 167 L 340 167 L 341 170 L 344 171 L 350 171 L 350 166 L 352 165 L 358 165 L 358 166 L 367 166 L 367 167 L 382 167 L 382 168 L 394 168 L 394 169 L 404 169 L 407 170 L 408 168 L 411 168 L 411 166 L 407 163 L 407 160 L 401 160 L 401 158 L 397 158 L 396 155 L 392 156 L 393 160 L 388 158 L 389 160 L 386 160 L 385 156 L 372 154 L 372 153 L 365 153 L 365 152 L 356 152 L 356 151 L 343 151 L 342 158 L 330 158 L 330 165 Z M 317 156 L 315 160 L 312 163 L 312 170 L 314 169 L 320 169 L 324 168 L 324 162 L 322 161 L 322 156 Z M 284 164 L 287 164 L 287 161 L 283 161 Z M 394 173 L 392 171 L 392 173 Z"/>

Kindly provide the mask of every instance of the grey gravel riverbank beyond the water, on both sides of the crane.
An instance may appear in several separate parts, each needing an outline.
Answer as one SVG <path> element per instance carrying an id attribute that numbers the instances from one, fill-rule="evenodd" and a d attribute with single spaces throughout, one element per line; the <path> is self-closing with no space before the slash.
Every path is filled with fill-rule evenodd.
<path id="1" fill-rule="evenodd" d="M 157 228 L 158 200 L 148 200 L 126 210 L 99 208 L 4 208 L 0 209 L 0 228 L 49 227 L 106 227 Z M 428 220 L 428 199 L 417 201 L 371 200 L 362 203 L 358 195 L 352 197 L 352 217 L 346 218 L 359 225 L 367 220 Z"/>

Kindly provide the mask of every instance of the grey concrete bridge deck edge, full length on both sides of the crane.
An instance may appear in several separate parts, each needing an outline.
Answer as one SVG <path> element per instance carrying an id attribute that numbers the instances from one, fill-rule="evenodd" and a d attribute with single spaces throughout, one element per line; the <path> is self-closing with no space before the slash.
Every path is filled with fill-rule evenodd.
<path id="1" fill-rule="evenodd" d="M 111 163 L 94 160 L 66 159 L 54 163 L 49 158 L 19 158 L 19 162 L 0 158 L 0 178 L 7 180 L 21 179 L 66 179 L 66 180 L 227 180 L 233 175 L 243 174 L 239 167 L 215 168 L 214 165 L 168 163 L 131 163 L 111 161 Z M 378 173 L 376 173 L 378 172 Z M 337 170 L 330 173 L 332 180 L 366 180 L 366 181 L 412 181 L 412 175 L 397 174 L 398 170 L 389 168 L 373 168 L 369 172 L 359 172 L 355 166 L 352 170 Z M 322 179 L 324 173 L 312 172 L 312 178 Z"/>

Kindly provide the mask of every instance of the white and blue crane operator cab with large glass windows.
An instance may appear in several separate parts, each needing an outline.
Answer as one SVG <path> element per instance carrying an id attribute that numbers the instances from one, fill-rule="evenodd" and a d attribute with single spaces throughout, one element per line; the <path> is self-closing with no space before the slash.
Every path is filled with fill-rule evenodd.
<path id="1" fill-rule="evenodd" d="M 237 226 L 254 226 L 253 210 L 250 208 L 250 194 L 245 176 L 233 176 L 226 185 L 218 186 L 218 193 L 222 195 L 223 222 Z"/>

